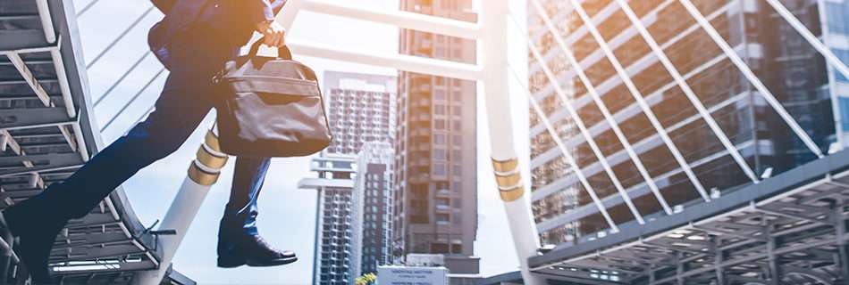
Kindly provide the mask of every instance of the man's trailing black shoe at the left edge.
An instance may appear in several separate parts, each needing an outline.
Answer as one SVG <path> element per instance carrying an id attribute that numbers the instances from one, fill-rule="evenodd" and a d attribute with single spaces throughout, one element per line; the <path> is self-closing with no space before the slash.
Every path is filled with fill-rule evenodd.
<path id="1" fill-rule="evenodd" d="M 55 284 L 47 270 L 50 249 L 68 220 L 32 210 L 26 201 L 3 211 L 5 224 L 18 239 L 14 248 L 35 284 Z"/>

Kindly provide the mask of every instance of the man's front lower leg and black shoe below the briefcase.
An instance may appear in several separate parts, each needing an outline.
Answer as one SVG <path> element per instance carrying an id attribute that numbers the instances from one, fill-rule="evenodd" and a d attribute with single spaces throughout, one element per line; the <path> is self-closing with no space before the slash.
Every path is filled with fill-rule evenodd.
<path id="1" fill-rule="evenodd" d="M 256 201 L 270 164 L 267 158 L 236 159 L 230 201 L 218 230 L 219 267 L 285 265 L 298 260 L 294 252 L 271 248 L 256 229 Z"/>

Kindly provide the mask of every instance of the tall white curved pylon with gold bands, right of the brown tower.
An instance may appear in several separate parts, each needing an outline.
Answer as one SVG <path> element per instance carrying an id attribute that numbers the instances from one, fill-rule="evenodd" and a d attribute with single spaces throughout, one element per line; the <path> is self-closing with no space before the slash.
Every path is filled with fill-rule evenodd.
<path id="1" fill-rule="evenodd" d="M 510 234 L 516 246 L 522 279 L 526 285 L 543 284 L 530 272 L 528 257 L 539 249 L 530 199 L 525 191 L 510 115 L 508 80 L 508 0 L 482 1 L 483 38 L 478 41 L 479 63 L 483 64 L 483 94 L 492 145 L 492 168 L 507 212 Z M 525 53 L 526 54 L 526 53 Z"/>

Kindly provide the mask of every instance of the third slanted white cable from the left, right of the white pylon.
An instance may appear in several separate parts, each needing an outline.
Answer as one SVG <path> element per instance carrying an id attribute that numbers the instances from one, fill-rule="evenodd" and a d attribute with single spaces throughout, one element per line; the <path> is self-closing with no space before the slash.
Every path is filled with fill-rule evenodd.
<path id="1" fill-rule="evenodd" d="M 542 22 L 548 28 L 549 32 L 551 33 L 551 36 L 554 37 L 554 41 L 557 42 L 557 44 L 560 47 L 560 50 L 564 54 L 566 54 L 566 58 L 567 58 L 567 61 L 569 61 L 569 65 L 571 65 L 572 68 L 575 69 L 576 74 L 578 75 L 578 78 L 581 80 L 581 83 L 584 84 L 584 87 L 586 87 L 587 93 L 589 93 L 593 97 L 593 101 L 599 107 L 599 110 L 601 110 L 602 116 L 604 116 L 604 119 L 607 121 L 610 128 L 616 134 L 619 142 L 622 143 L 622 146 L 625 148 L 625 151 L 627 152 L 628 156 L 631 158 L 631 160 L 634 162 L 634 165 L 637 167 L 638 172 L 640 173 L 640 175 L 643 176 L 643 180 L 645 181 L 646 185 L 649 186 L 649 189 L 654 194 L 655 198 L 658 199 L 660 206 L 667 213 L 667 215 L 672 215 L 672 208 L 669 207 L 667 200 L 665 198 L 663 198 L 663 194 L 660 193 L 660 189 L 658 188 L 658 185 L 656 183 L 654 183 L 654 179 L 651 177 L 651 175 L 649 175 L 648 170 L 646 170 L 645 166 L 643 165 L 643 160 L 640 159 L 640 157 L 636 154 L 636 152 L 634 151 L 634 147 L 631 144 L 631 142 L 628 142 L 628 139 L 625 136 L 625 134 L 622 132 L 622 129 L 619 128 L 619 125 L 616 122 L 616 119 L 614 119 L 613 115 L 610 114 L 610 111 L 608 110 L 607 105 L 604 102 L 601 101 L 601 96 L 595 90 L 595 86 L 593 85 L 593 82 L 590 80 L 589 77 L 586 76 L 584 69 L 581 68 L 581 64 L 577 61 L 577 59 L 575 58 L 575 55 L 572 54 L 572 52 L 568 49 L 568 46 L 566 45 L 565 40 L 563 39 L 563 37 L 560 36 L 557 28 L 555 28 L 554 24 L 551 22 L 551 17 L 545 12 L 545 9 L 542 8 L 542 4 L 540 4 L 539 0 L 530 0 L 530 2 L 531 2 L 531 4 L 534 5 L 534 8 L 536 9 L 537 14 L 540 15 Z M 528 45 L 534 45 L 534 44 L 533 44 L 533 42 L 528 41 Z M 540 61 L 540 59 L 541 58 L 537 57 L 537 61 Z M 544 65 L 545 62 L 540 61 L 540 64 Z M 552 81 L 551 84 L 558 84 L 558 83 L 556 81 Z M 561 99 L 565 99 L 565 98 L 561 98 Z M 564 103 L 571 104 L 571 102 L 564 102 Z M 689 166 L 684 164 L 682 167 L 689 167 Z M 624 198 L 625 197 L 623 197 L 623 199 Z M 627 199 L 626 203 L 629 204 L 629 207 L 632 207 L 630 205 L 630 204 L 632 204 L 630 199 Z M 644 223 L 642 219 L 639 219 L 637 221 L 640 222 L 640 224 Z"/>

